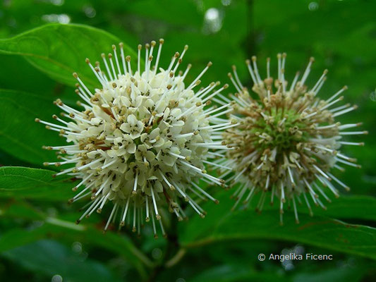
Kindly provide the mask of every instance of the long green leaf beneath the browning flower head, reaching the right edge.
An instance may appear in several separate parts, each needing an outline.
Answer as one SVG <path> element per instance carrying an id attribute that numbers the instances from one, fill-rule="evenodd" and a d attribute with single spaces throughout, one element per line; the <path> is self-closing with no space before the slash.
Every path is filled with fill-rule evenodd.
<path id="1" fill-rule="evenodd" d="M 220 207 L 222 202 L 224 207 Z M 286 210 L 284 226 L 280 226 L 277 209 L 265 209 L 262 214 L 255 213 L 253 209 L 230 212 L 229 207 L 234 203 L 229 204 L 226 200 L 222 202 L 219 207 L 206 205 L 205 224 L 202 219 L 194 217 L 186 224 L 186 228 L 181 228 L 180 238 L 183 247 L 196 247 L 228 240 L 286 240 L 376 259 L 375 228 L 347 224 L 317 214 L 310 217 L 304 213 L 303 208 L 299 213 L 300 224 L 295 223 L 293 212 Z M 346 203 L 349 211 L 355 210 L 351 209 L 351 201 L 344 202 Z M 370 204 L 373 205 L 374 201 L 371 200 Z M 361 204 L 357 202 L 354 207 L 359 205 Z M 372 207 L 368 208 L 372 209 Z M 350 214 L 344 210 L 342 212 L 345 216 Z M 335 213 L 341 214 L 341 209 Z"/>

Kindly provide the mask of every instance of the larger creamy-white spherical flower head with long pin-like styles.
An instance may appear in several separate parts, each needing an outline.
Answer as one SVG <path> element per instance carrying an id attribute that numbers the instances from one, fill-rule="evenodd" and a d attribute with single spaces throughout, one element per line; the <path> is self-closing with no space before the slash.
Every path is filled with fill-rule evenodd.
<path id="1" fill-rule="evenodd" d="M 209 159 L 222 155 L 210 150 L 224 152 L 230 149 L 218 139 L 228 123 L 210 118 L 208 112 L 215 109 L 207 107 L 227 85 L 215 91 L 218 83 L 212 82 L 195 92 L 194 88 L 212 63 L 186 86 L 184 80 L 190 65 L 184 72 L 177 73 L 177 70 L 188 46 L 181 54 L 174 54 L 169 66 L 162 69 L 158 68 L 158 62 L 163 39 L 159 43 L 153 68 L 156 42 L 146 44 L 145 70 L 142 71 L 141 45 L 138 46 L 135 72 L 131 68 L 131 57 L 124 56 L 123 44 L 119 44 L 119 55 L 115 46 L 114 54 L 109 54 L 108 60 L 102 54 L 106 73 L 99 63 L 94 67 L 87 59 L 102 87 L 91 92 L 78 75 L 73 74 L 78 80 L 76 92 L 83 100 L 78 105 L 85 109 L 78 111 L 59 99 L 56 106 L 65 112 L 63 117 L 71 121 L 54 116 L 61 123 L 58 125 L 37 119 L 71 143 L 46 147 L 58 150 L 62 161 L 45 164 L 75 164 L 56 175 L 68 173 L 81 179 L 73 188 L 80 192 L 71 202 L 91 197 L 78 222 L 92 212 L 101 212 L 106 202 L 112 202 L 105 230 L 112 221 L 119 219 L 120 226 L 128 221 L 133 225 L 133 231 L 140 232 L 142 221 L 152 219 L 156 235 L 154 219 L 161 219 L 163 204 L 181 220 L 185 214 L 178 198 L 190 204 L 202 217 L 205 212 L 193 200 L 192 193 L 201 199 L 218 202 L 196 183 L 202 179 L 212 185 L 224 185 L 224 180 L 207 173 L 205 164 L 220 166 Z M 213 141 L 213 136 L 217 140 Z M 159 223 L 165 235 L 162 221 Z"/>

